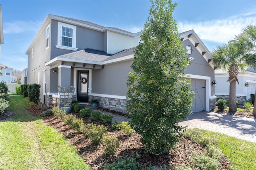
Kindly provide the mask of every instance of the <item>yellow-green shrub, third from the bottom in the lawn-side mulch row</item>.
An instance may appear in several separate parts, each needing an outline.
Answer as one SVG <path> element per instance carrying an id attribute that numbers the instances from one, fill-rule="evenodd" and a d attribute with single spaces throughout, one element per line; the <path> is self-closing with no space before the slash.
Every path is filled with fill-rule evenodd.
<path id="1" fill-rule="evenodd" d="M 90 138 L 90 140 L 92 140 L 92 144 L 94 145 L 100 144 L 106 130 L 107 130 L 107 127 L 104 127 L 103 125 L 101 126 L 92 125 L 92 128 L 90 128 L 88 131 L 88 137 Z"/>

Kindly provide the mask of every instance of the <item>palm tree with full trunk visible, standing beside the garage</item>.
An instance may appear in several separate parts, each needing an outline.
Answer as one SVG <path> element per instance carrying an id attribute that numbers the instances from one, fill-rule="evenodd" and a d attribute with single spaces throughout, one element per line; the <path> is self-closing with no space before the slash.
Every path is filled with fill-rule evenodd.
<path id="1" fill-rule="evenodd" d="M 240 45 L 235 45 L 234 42 L 229 41 L 223 45 L 217 46 L 213 50 L 213 64 L 214 66 L 223 69 L 224 71 L 228 70 L 229 77 L 229 112 L 235 113 L 236 108 L 236 82 L 238 81 L 238 73 L 242 73 L 246 69 L 246 63 L 244 56 L 244 48 Z"/>

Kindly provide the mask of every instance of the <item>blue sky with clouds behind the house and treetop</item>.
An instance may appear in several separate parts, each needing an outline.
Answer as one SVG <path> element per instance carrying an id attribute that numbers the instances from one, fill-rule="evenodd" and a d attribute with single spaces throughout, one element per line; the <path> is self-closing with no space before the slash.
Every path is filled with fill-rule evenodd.
<path id="1" fill-rule="evenodd" d="M 179 32 L 194 30 L 210 51 L 256 24 L 256 0 L 173 0 Z M 0 0 L 4 28 L 0 63 L 27 67 L 28 46 L 47 14 L 90 21 L 130 32 L 142 30 L 149 0 Z"/>

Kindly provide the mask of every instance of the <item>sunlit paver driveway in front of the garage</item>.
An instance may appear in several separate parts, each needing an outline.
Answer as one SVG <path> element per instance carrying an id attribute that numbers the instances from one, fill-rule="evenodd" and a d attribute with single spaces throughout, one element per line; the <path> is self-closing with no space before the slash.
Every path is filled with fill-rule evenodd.
<path id="1" fill-rule="evenodd" d="M 256 119 L 226 115 L 214 112 L 198 112 L 188 115 L 188 118 L 179 123 L 187 128 L 201 128 L 220 132 L 256 142 Z"/>

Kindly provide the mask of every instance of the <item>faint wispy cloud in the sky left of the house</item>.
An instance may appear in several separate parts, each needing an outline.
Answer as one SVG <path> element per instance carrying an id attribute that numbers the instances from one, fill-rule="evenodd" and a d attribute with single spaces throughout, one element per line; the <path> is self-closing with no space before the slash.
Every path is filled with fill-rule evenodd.
<path id="1" fill-rule="evenodd" d="M 42 22 L 22 21 L 3 22 L 4 34 L 19 34 L 23 32 L 37 32 Z"/>

